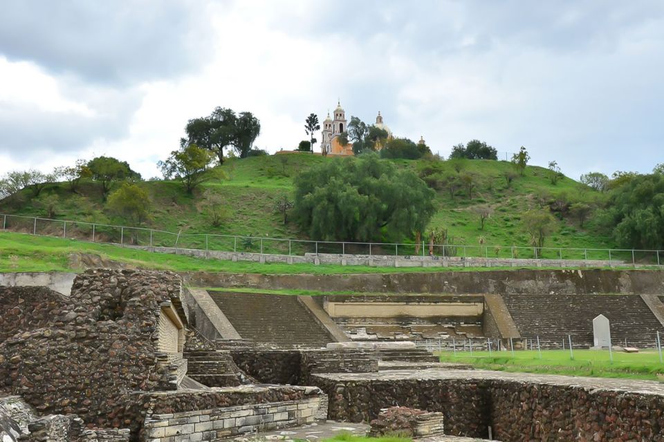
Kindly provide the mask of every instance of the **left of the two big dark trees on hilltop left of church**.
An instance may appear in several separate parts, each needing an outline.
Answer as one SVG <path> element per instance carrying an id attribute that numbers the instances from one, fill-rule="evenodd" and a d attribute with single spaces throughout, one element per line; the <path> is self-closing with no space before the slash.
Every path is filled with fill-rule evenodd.
<path id="1" fill-rule="evenodd" d="M 209 117 L 190 119 L 185 132 L 186 144 L 208 149 L 223 164 L 223 149 L 237 142 L 237 115 L 232 109 L 216 107 Z"/>

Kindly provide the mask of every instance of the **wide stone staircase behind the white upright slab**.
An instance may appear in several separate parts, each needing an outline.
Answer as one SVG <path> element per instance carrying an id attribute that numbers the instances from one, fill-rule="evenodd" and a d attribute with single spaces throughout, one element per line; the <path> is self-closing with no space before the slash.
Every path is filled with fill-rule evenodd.
<path id="1" fill-rule="evenodd" d="M 543 347 L 562 347 L 571 335 L 574 347 L 593 345 L 593 318 L 609 318 L 614 345 L 654 347 L 664 327 L 636 295 L 502 295 L 522 338 L 540 336 Z"/>

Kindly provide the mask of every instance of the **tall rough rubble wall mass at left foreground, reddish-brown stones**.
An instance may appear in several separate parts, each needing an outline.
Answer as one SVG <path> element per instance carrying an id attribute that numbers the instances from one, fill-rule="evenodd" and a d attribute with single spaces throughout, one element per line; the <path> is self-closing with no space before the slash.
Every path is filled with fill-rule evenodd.
<path id="1" fill-rule="evenodd" d="M 33 290 L 36 302 L 44 291 Z M 0 343 L 0 390 L 19 394 L 41 414 L 126 427 L 133 423 L 129 392 L 177 386 L 177 374 L 158 363 L 156 343 L 161 305 L 180 292 L 175 273 L 91 270 L 75 279 L 68 305 L 54 304 L 50 320 L 40 312 L 53 296 L 44 304 L 22 302 L 25 330 Z"/>

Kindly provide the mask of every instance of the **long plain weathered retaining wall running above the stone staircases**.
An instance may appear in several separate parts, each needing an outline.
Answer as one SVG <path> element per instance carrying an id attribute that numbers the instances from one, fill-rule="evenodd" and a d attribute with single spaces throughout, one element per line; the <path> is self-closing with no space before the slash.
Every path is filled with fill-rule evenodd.
<path id="1" fill-rule="evenodd" d="M 664 271 L 501 270 L 364 275 L 181 273 L 194 287 L 251 287 L 369 293 L 441 294 L 661 294 Z"/>

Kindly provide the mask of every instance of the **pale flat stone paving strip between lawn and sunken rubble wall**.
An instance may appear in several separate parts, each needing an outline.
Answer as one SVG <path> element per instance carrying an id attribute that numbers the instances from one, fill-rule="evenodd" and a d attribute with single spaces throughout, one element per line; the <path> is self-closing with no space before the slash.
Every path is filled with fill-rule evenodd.
<path id="1" fill-rule="evenodd" d="M 459 379 L 472 381 L 481 379 L 497 379 L 502 381 L 537 383 L 544 385 L 582 387 L 589 390 L 609 390 L 616 392 L 632 392 L 664 396 L 664 383 L 659 383 L 656 381 L 636 381 L 623 378 L 587 378 L 555 374 L 508 373 L 479 369 L 400 369 L 385 370 L 378 373 L 324 373 L 316 374 L 315 376 L 318 378 L 330 379 L 331 381 L 390 381 L 404 379 Z"/>

